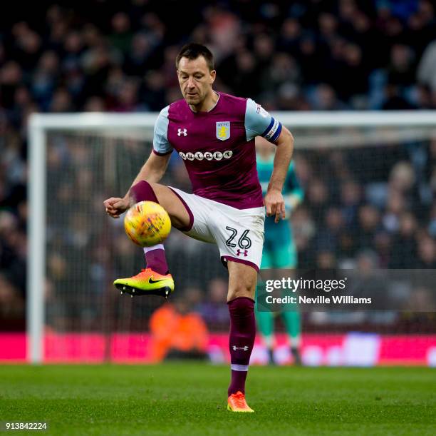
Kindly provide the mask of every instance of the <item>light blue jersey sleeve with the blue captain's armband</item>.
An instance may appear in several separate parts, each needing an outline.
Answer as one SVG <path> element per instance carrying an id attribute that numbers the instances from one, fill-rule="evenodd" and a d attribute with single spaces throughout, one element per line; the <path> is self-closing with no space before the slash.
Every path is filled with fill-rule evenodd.
<path id="1" fill-rule="evenodd" d="M 246 140 L 263 136 L 270 142 L 275 142 L 281 133 L 281 123 L 274 119 L 260 104 L 251 98 L 246 99 L 245 109 Z"/>

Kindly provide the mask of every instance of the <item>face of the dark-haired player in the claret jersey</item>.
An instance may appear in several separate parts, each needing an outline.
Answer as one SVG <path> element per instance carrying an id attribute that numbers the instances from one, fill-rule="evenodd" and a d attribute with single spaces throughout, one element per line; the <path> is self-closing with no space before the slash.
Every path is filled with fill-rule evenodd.
<path id="1" fill-rule="evenodd" d="M 192 106 L 201 105 L 204 99 L 212 93 L 212 83 L 216 75 L 215 70 L 209 71 L 203 56 L 192 60 L 180 59 L 177 76 L 187 103 Z"/>

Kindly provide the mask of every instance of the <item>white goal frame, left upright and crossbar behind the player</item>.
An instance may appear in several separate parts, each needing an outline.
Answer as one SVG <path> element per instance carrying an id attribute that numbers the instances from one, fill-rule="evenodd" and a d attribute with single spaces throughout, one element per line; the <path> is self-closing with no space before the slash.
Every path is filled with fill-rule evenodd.
<path id="1" fill-rule="evenodd" d="M 291 131 L 296 128 L 432 128 L 436 131 L 436 111 L 384 112 L 277 112 L 273 113 Z M 28 271 L 27 271 L 27 360 L 43 363 L 44 288 L 46 279 L 46 158 L 47 136 L 51 131 L 88 131 L 105 135 L 142 129 L 152 132 L 157 113 L 63 113 L 33 114 L 28 123 Z M 433 130 L 435 129 L 435 130 Z M 147 138 L 150 139 L 150 138 Z M 316 144 L 313 144 L 316 147 Z M 296 136 L 296 149 L 299 137 Z"/>

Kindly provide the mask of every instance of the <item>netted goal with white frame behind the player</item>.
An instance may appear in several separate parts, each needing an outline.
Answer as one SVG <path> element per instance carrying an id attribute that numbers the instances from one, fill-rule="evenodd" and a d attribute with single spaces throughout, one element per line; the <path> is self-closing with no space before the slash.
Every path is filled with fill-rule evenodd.
<path id="1" fill-rule="evenodd" d="M 291 216 L 300 268 L 358 268 L 365 262 L 435 268 L 435 113 L 276 117 L 294 133 L 305 193 Z M 155 118 L 83 113 L 31 119 L 28 360 L 153 360 L 150 317 L 164 300 L 121 296 L 113 288 L 115 278 L 136 274 L 145 259 L 125 236 L 123 220 L 106 216 L 103 201 L 130 187 L 152 149 Z M 162 183 L 190 191 L 177 153 Z M 165 248 L 178 310 L 202 315 L 207 353 L 225 360 L 227 272 L 217 248 L 177 230 Z M 302 319 L 303 360 L 310 365 L 349 363 L 344 355 L 362 344 L 371 364 L 436 361 L 435 316 L 425 310 L 316 312 Z M 278 343 L 286 343 L 284 335 Z"/>

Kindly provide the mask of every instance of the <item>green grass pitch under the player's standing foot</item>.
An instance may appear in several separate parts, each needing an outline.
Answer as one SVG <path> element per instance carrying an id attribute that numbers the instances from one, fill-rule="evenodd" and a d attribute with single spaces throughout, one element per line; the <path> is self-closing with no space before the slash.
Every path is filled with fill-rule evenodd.
<path id="1" fill-rule="evenodd" d="M 41 435 L 436 432 L 431 368 L 251 367 L 247 400 L 254 414 L 227 412 L 228 380 L 229 367 L 197 363 L 4 365 L 0 421 L 46 421 L 48 431 L 28 432 Z"/>

